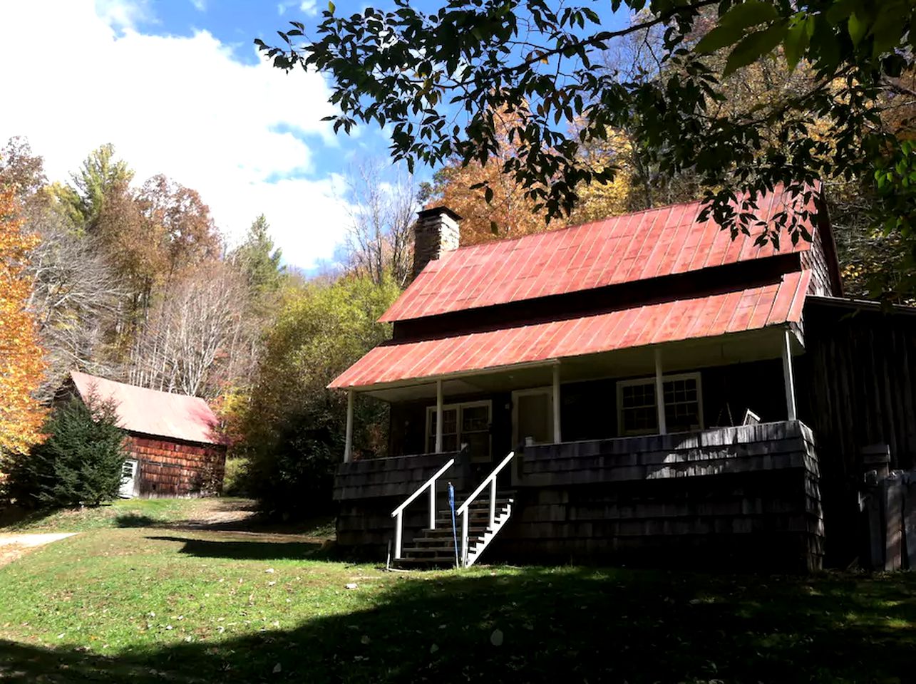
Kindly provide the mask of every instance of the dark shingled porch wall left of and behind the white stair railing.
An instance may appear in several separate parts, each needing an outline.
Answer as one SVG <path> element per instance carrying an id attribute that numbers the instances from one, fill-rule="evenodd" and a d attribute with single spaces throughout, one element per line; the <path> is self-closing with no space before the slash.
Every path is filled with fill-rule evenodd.
<path id="1" fill-rule="evenodd" d="M 437 490 L 437 501 L 444 508 L 448 483 L 452 482 L 456 491 L 465 485 L 466 460 L 460 451 L 341 463 L 334 476 L 334 500 L 340 502 L 337 544 L 381 558 L 394 536 L 391 511 L 449 459 L 455 459 L 455 465 L 439 479 Z M 428 521 L 429 494 L 420 494 L 404 511 L 404 544 L 427 527 Z"/>

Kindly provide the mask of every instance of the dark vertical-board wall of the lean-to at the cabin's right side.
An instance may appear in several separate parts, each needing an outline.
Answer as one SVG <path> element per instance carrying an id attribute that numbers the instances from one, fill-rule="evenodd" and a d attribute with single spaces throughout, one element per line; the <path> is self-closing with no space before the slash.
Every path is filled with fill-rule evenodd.
<path id="1" fill-rule="evenodd" d="M 826 560 L 845 567 L 861 550 L 862 450 L 887 444 L 891 469 L 916 467 L 916 316 L 809 298 L 804 337 L 800 417 L 821 454 Z"/>

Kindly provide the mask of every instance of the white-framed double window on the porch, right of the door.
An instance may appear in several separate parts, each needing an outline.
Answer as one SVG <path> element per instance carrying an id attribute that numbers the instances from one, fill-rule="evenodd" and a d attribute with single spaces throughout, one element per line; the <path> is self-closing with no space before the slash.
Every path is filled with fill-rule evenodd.
<path id="1" fill-rule="evenodd" d="M 703 429 L 703 388 L 699 373 L 664 375 L 665 428 L 668 432 Z M 617 383 L 617 428 L 620 435 L 651 435 L 659 431 L 655 378 Z"/>

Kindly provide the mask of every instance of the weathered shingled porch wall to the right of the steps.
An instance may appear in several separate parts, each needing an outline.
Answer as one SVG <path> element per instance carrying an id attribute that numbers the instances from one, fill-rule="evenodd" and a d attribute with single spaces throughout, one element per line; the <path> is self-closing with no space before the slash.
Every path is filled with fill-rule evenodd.
<path id="1" fill-rule="evenodd" d="M 529 447 L 497 557 L 816 570 L 818 461 L 802 423 Z"/>

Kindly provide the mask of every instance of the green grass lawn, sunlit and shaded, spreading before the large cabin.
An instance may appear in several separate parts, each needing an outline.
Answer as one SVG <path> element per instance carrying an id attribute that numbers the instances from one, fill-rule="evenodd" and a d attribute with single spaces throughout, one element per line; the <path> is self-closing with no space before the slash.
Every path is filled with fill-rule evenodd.
<path id="1" fill-rule="evenodd" d="M 328 554 L 156 527 L 40 548 L 0 569 L 0 680 L 905 682 L 916 664 L 911 573 L 408 574 Z"/>

